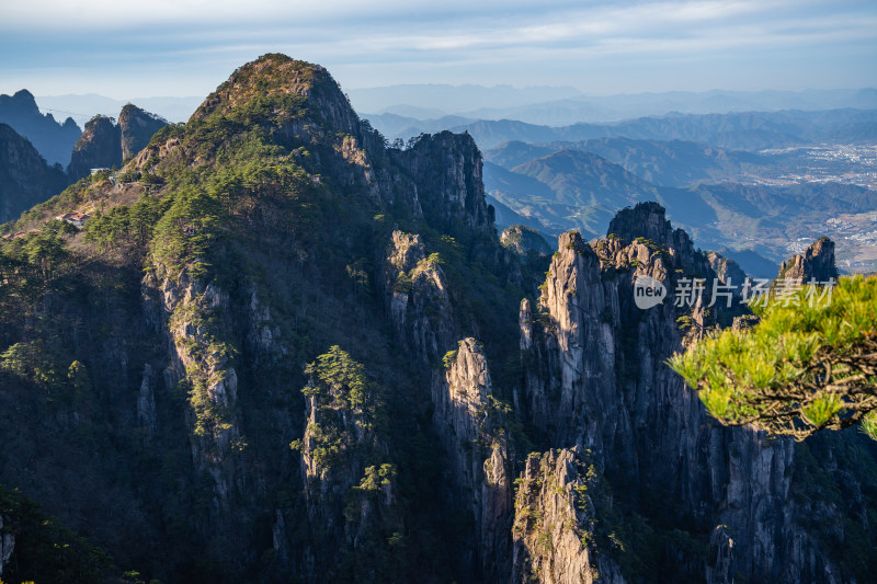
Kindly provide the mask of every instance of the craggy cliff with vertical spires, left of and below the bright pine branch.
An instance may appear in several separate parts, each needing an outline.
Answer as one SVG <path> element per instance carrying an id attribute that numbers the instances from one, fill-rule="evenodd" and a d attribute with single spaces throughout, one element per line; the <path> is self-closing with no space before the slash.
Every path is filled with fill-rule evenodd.
<path id="1" fill-rule="evenodd" d="M 662 211 L 654 204 L 620 211 L 610 228 L 620 238 L 593 249 L 577 233 L 561 237 L 539 299 L 544 325 L 528 318 L 531 307 L 521 311 L 532 417 L 553 444 L 591 449 L 601 474 L 658 489 L 704 534 L 728 526 L 734 543 L 714 542 L 721 549 L 708 560 L 710 579 L 721 581 L 732 564 L 731 574 L 744 577 L 830 581 L 820 547 L 796 519 L 801 509 L 788 501 L 793 445 L 719 426 L 665 365 L 691 341 L 682 317 L 698 328 L 715 322 L 709 288 L 702 300 L 676 307 L 679 283 L 690 274 L 717 276 Z M 662 283 L 667 299 L 637 308 L 639 275 Z M 706 574 L 706 565 L 673 553 L 693 571 L 685 577 Z"/>

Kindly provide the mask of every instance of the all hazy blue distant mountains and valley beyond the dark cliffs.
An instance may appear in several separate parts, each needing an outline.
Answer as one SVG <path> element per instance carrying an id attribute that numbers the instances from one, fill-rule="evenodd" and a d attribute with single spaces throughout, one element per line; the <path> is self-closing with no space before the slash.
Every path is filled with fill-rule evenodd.
<path id="1" fill-rule="evenodd" d="M 69 161 L 71 145 L 81 133 L 75 121 L 83 124 L 94 114 L 114 116 L 127 103 L 96 94 L 35 101 L 26 91 L 3 99 L 0 122 L 5 121 L 5 110 L 8 123 L 16 131 L 27 137 L 49 162 L 62 164 Z M 815 181 L 794 179 L 812 170 L 809 154 L 766 156 L 760 151 L 877 144 L 875 89 L 600 98 L 573 88 L 435 84 L 351 90 L 349 99 L 361 112 L 378 112 L 366 117 L 391 141 L 407 141 L 444 129 L 469 133 L 485 152 L 485 183 L 500 227 L 520 222 L 549 237 L 571 228 L 597 234 L 605 232 L 618 208 L 640 201 L 659 201 L 698 244 L 759 249 L 754 257 L 740 260 L 752 273 L 760 261 L 766 273 L 766 265 L 785 257 L 794 239 L 806 237 L 819 221 L 853 214 L 858 217 L 853 221 L 856 233 L 869 233 L 869 219 L 859 216 L 875 208 L 868 207 L 873 192 L 853 186 L 865 184 L 862 181 L 838 181 L 836 178 L 848 175 L 845 173 L 850 169 L 841 169 L 836 157 L 830 164 L 831 176 L 820 179 L 830 184 L 811 185 L 808 191 L 791 183 Z M 149 98 L 132 102 L 176 122 L 189 119 L 201 99 Z M 779 107 L 785 108 L 776 111 Z M 25 110 L 26 115 L 22 113 Z M 45 112 L 49 113 L 44 115 Z M 57 115 L 72 117 L 61 126 L 55 121 Z M 58 136 L 44 136 L 41 131 Z M 118 140 L 104 141 L 112 141 L 117 149 Z M 100 151 L 96 134 L 87 142 L 79 148 L 79 158 Z M 75 176 L 121 160 L 116 160 L 118 156 L 98 157 L 101 161 L 86 158 L 79 161 Z M 786 174 L 793 179 L 776 180 Z M 762 181 L 764 178 L 767 179 Z M 774 186 L 752 184 L 760 181 Z M 727 184 L 715 186 L 720 183 Z M 811 199 L 830 204 L 815 206 Z M 868 238 L 865 237 L 866 244 L 872 245 Z M 839 253 L 846 254 L 846 245 L 841 241 Z M 850 253 L 847 257 L 857 255 Z M 858 257 L 877 260 L 867 254 Z"/>

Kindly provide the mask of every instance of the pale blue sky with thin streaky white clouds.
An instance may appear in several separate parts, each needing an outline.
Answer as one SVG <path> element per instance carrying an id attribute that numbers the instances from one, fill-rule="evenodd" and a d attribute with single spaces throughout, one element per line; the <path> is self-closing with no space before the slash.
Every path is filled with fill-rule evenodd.
<path id="1" fill-rule="evenodd" d="M 3 0 L 0 93 L 206 95 L 267 51 L 345 89 L 877 85 L 875 0 Z"/>

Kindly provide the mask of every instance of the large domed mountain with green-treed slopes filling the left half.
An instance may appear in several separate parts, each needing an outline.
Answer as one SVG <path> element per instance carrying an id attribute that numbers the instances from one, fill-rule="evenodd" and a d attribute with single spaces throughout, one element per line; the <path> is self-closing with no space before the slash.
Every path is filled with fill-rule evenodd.
<path id="1" fill-rule="evenodd" d="M 436 363 L 457 339 L 488 331 L 501 339 L 493 354 L 516 347 L 524 276 L 492 229 L 469 137 L 386 149 L 324 69 L 267 56 L 185 127 L 160 130 L 116 184 L 95 175 L 35 213 L 71 207 L 95 213 L 83 232 L 44 229 L 3 247 L 27 270 L 29 250 L 59 247 L 50 271 L 33 265 L 29 298 L 53 298 L 48 318 L 34 321 L 43 308 L 3 296 L 4 346 L 39 370 L 80 363 L 75 377 L 91 389 L 3 362 L 0 412 L 12 415 L 20 400 L 32 409 L 0 424 L 21 445 L 3 449 L 0 481 L 104 545 L 121 568 L 167 582 L 410 581 L 424 571 L 471 580 L 501 564 L 462 553 L 468 502 L 454 513 L 451 500 L 436 505 L 455 471 L 445 456 L 436 463 L 445 443 L 429 413 Z M 388 262 L 397 245 L 412 249 Z M 15 279 L 15 290 L 27 285 Z M 443 310 L 456 322 L 430 325 Z M 305 364 L 334 345 L 386 403 L 354 423 L 373 426 L 358 437 L 343 423 L 337 435 L 314 434 L 348 406 L 299 391 L 314 382 Z M 54 413 L 32 424 L 45 408 Z M 319 451 L 335 449 L 346 453 L 339 466 L 318 471 Z M 34 458 L 42 470 L 31 474 Z M 58 479 L 39 480 L 49 468 Z M 392 496 L 373 499 L 384 480 Z M 478 480 L 467 484 L 480 492 Z M 477 508 L 502 514 L 510 479 L 494 482 L 505 494 Z M 64 499 L 54 484 L 66 485 Z"/>

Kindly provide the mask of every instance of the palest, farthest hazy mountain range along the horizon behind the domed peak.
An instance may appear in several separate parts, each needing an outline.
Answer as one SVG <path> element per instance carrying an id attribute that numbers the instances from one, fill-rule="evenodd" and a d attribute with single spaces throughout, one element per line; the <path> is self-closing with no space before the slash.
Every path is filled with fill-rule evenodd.
<path id="1" fill-rule="evenodd" d="M 353 106 L 388 137 L 407 126 L 423 126 L 410 133 L 436 131 L 476 119 L 516 119 L 528 124 L 566 126 L 580 122 L 607 123 L 664 115 L 668 112 L 710 114 L 772 112 L 777 110 L 877 108 L 877 89 L 805 91 L 671 91 L 620 95 L 586 95 L 571 87 L 406 84 L 348 91 Z M 112 116 L 126 103 L 134 103 L 170 122 L 184 122 L 201 103 L 198 96 L 133 98 L 116 100 L 104 95 L 37 96 L 44 113 L 68 116 L 80 126 L 94 115 Z M 389 114 L 389 115 L 383 115 Z M 398 116 L 398 117 L 395 117 Z M 455 117 L 447 117 L 455 116 Z M 406 119 L 399 119 L 406 118 Z M 446 118 L 447 119 L 442 119 Z M 380 122 L 376 122 L 380 118 Z M 437 122 L 436 122 L 437 121 Z M 420 123 L 420 124 L 418 124 Z M 436 125 L 437 124 L 437 125 Z M 398 126 L 398 127 L 396 127 Z M 391 131 L 388 131 L 389 129 Z"/>

